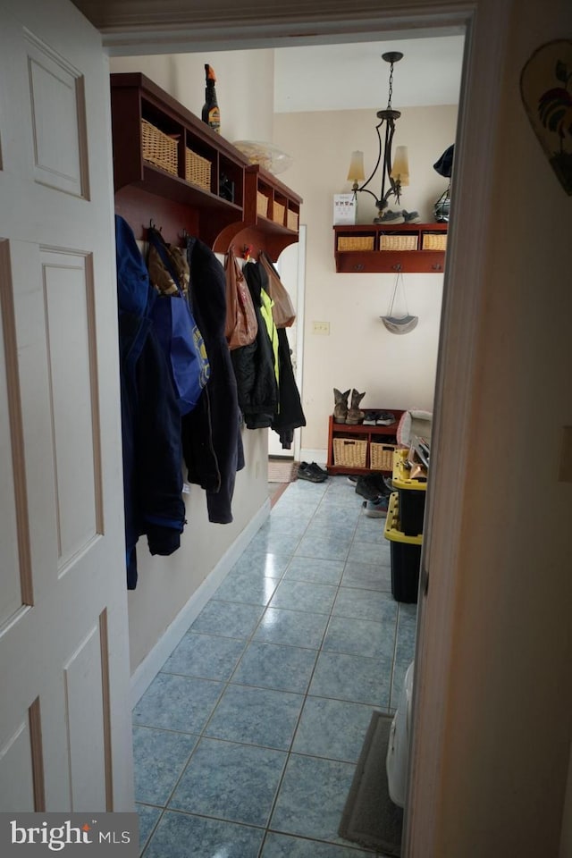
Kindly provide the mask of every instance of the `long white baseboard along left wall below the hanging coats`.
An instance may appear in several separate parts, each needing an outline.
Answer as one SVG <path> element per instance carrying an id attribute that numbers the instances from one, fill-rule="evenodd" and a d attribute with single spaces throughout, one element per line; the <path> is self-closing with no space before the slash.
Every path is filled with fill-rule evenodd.
<path id="1" fill-rule="evenodd" d="M 164 635 L 157 641 L 147 657 L 141 661 L 130 679 L 131 706 L 139 701 L 140 697 L 147 691 L 164 662 L 169 658 L 175 646 L 181 642 L 181 638 L 189 630 L 189 626 L 198 617 L 198 614 L 211 598 L 216 588 L 223 582 L 231 571 L 240 555 L 247 547 L 252 537 L 257 533 L 266 518 L 270 515 L 270 499 L 267 499 L 257 514 L 250 519 L 242 533 L 225 551 L 223 557 L 206 576 L 195 593 L 192 594 L 187 604 L 173 619 L 171 625 L 165 630 Z"/>

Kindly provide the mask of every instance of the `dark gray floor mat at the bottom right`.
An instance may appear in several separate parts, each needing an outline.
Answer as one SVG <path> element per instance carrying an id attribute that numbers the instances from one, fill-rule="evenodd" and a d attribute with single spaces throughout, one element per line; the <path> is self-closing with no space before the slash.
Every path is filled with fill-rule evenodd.
<path id="1" fill-rule="evenodd" d="M 382 712 L 372 715 L 339 833 L 379 854 L 399 856 L 403 811 L 391 801 L 385 771 L 391 720 Z"/>

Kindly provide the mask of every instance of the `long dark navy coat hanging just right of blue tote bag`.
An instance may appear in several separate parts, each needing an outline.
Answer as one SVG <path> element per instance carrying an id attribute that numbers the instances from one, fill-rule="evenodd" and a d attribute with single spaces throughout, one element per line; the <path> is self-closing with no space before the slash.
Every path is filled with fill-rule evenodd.
<path id="1" fill-rule="evenodd" d="M 189 304 L 203 334 L 210 377 L 197 407 L 182 418 L 183 456 L 189 481 L 206 490 L 208 520 L 232 521 L 236 473 L 244 467 L 240 412 L 231 352 L 224 336 L 226 278 L 204 242 L 189 237 Z"/>

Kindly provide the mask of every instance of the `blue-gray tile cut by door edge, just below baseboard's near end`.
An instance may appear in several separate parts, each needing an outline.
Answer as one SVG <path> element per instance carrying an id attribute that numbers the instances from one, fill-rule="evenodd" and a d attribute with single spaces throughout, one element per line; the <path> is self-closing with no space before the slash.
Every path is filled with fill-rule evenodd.
<path id="1" fill-rule="evenodd" d="M 133 728 L 136 801 L 164 806 L 197 742 L 187 733 Z"/>

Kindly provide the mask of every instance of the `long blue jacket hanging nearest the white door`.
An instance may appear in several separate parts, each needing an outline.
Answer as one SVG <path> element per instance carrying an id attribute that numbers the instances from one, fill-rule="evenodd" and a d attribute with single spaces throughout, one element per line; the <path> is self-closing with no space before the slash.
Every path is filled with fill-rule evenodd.
<path id="1" fill-rule="evenodd" d="M 149 313 L 156 292 L 130 225 L 115 216 L 127 587 L 137 585 L 136 544 L 151 554 L 181 545 L 181 415 Z"/>

